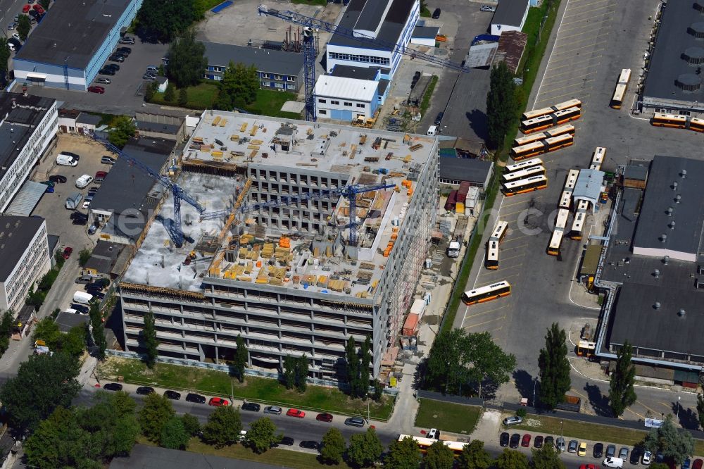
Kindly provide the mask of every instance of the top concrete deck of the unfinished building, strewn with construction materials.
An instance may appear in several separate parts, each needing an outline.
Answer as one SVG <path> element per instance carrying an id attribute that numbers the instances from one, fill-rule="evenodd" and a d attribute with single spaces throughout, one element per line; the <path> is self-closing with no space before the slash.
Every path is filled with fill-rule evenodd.
<path id="1" fill-rule="evenodd" d="M 282 144 L 289 144 L 289 149 L 284 150 Z M 356 147 L 353 153 L 351 146 Z M 217 154 L 218 149 L 222 155 Z M 329 232 L 325 235 L 282 232 L 278 228 L 256 225 L 254 218 L 258 209 L 253 205 L 255 201 L 247 198 L 243 205 L 249 208 L 244 215 L 237 215 L 240 220 L 237 233 L 241 239 L 250 237 L 253 242 L 242 241 L 239 251 L 234 251 L 233 256 L 224 256 L 215 266 L 217 272 L 210 270 L 216 248 L 203 246 L 213 246 L 211 241 L 218 239 L 225 217 L 201 220 L 196 209 L 184 203 L 181 205 L 183 230 L 184 235 L 193 240 L 192 244 L 174 249 L 169 246 L 168 232 L 163 225 L 152 223 L 123 281 L 200 292 L 203 275 L 210 273 L 233 282 L 366 297 L 370 285 L 382 274 L 386 263 L 384 249 L 391 239 L 395 239 L 396 230 L 406 229 L 403 217 L 411 196 L 406 187 L 401 187 L 401 182 L 411 178 L 411 173 L 420 173 L 436 151 L 436 138 L 425 135 L 206 111 L 184 149 L 182 165 L 207 167 L 204 173 L 218 173 L 211 169 L 220 167 L 232 170 L 233 175 L 183 170 L 177 180 L 180 187 L 206 207 L 206 213 L 228 210 L 234 205 L 245 183 L 245 178 L 234 175 L 235 172 L 246 173 L 249 177 L 252 173 L 266 175 L 268 172 L 293 171 L 310 177 L 346 181 L 347 184 L 379 185 L 384 182 L 394 184 L 400 190 L 378 190 L 357 197 L 360 218 L 358 251 L 362 254 L 353 262 L 341 254 L 340 246 L 330 244 L 327 237 L 329 233 L 339 233 L 345 239 L 348 236 L 349 205 L 343 197 L 334 201 L 327 223 Z M 386 156 L 389 156 L 388 160 Z M 386 175 L 379 174 L 379 169 Z M 264 181 L 286 184 L 268 176 L 253 180 L 257 184 Z M 412 184 L 415 187 L 415 183 Z M 172 218 L 172 214 L 173 202 L 168 197 L 159 215 Z M 394 226 L 393 220 L 396 219 L 399 220 L 398 227 Z M 290 248 L 284 247 L 285 253 L 277 251 L 282 257 L 272 265 L 272 254 L 266 254 L 267 244 L 272 249 L 279 249 L 282 235 L 291 238 Z M 184 259 L 191 251 L 195 251 L 196 257 L 189 261 L 189 265 L 184 265 Z"/>

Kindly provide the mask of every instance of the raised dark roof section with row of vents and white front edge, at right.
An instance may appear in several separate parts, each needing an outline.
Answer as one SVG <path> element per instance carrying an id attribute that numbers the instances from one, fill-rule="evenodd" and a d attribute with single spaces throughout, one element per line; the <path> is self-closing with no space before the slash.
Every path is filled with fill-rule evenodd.
<path id="1" fill-rule="evenodd" d="M 696 255 L 704 223 L 704 161 L 656 155 L 634 237 L 634 249 Z M 672 225 L 674 223 L 674 225 Z M 662 235 L 667 235 L 663 242 Z"/>

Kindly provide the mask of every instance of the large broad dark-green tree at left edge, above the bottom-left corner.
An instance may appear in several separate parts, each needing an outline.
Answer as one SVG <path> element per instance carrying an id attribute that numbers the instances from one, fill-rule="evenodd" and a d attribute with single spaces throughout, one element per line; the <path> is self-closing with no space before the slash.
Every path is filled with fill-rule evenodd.
<path id="1" fill-rule="evenodd" d="M 68 354 L 32 355 L 0 389 L 0 401 L 15 430 L 34 430 L 58 406 L 68 407 L 81 385 L 79 363 Z"/>

